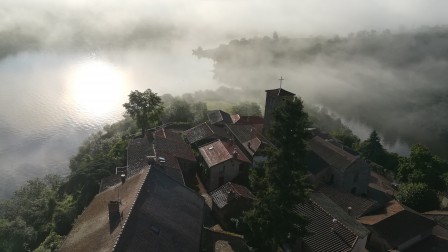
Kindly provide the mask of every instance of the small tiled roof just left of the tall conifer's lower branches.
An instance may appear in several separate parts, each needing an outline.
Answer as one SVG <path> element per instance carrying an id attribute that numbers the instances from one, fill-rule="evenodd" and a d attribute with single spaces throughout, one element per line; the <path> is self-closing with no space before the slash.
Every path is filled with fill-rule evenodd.
<path id="1" fill-rule="evenodd" d="M 229 194 L 233 193 L 234 198 L 229 199 Z M 210 193 L 213 202 L 219 207 L 225 207 L 230 201 L 239 198 L 254 200 L 255 196 L 247 187 L 227 182 Z"/>

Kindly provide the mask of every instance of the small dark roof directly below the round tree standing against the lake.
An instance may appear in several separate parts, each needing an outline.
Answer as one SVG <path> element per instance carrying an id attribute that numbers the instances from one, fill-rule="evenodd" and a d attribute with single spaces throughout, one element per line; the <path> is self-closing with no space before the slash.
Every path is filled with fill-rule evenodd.
<path id="1" fill-rule="evenodd" d="M 146 136 L 129 141 L 127 152 L 128 177 L 142 168 L 149 167 L 146 156 L 151 155 L 152 147 Z"/>

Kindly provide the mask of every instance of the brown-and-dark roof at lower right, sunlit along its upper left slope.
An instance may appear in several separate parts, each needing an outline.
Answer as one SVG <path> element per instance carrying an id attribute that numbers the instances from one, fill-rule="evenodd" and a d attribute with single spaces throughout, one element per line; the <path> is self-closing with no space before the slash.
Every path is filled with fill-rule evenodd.
<path id="1" fill-rule="evenodd" d="M 401 205 L 396 200 L 388 203 L 384 212 L 360 217 L 359 221 L 378 233 L 391 248 L 396 248 L 436 224 L 414 210 Z"/>

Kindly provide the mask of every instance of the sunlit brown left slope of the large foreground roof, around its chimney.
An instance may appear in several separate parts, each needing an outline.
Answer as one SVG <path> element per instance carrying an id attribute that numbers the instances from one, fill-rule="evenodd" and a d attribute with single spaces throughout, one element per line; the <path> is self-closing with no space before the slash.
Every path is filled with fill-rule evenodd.
<path id="1" fill-rule="evenodd" d="M 58 251 L 112 251 L 121 233 L 121 225 L 127 221 L 147 174 L 148 169 L 141 169 L 124 184 L 120 183 L 97 194 L 78 217 Z M 118 195 L 121 201 L 120 211 L 123 212 L 124 218 L 118 227 L 111 231 L 108 203 L 118 200 Z"/>

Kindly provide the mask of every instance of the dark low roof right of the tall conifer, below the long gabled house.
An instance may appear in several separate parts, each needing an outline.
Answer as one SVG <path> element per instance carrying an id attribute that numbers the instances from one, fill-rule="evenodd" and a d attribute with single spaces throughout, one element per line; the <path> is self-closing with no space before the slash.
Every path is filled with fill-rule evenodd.
<path id="1" fill-rule="evenodd" d="M 360 197 L 348 192 L 342 192 L 334 187 L 322 186 L 317 189 L 317 192 L 325 194 L 334 203 L 336 203 L 343 210 L 348 213 L 348 208 L 351 207 L 350 216 L 360 217 L 379 209 L 380 204 L 366 197 Z"/>

